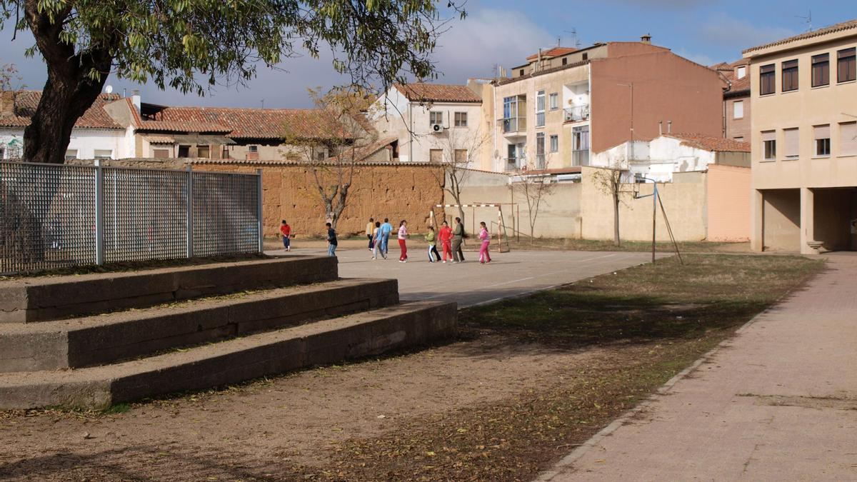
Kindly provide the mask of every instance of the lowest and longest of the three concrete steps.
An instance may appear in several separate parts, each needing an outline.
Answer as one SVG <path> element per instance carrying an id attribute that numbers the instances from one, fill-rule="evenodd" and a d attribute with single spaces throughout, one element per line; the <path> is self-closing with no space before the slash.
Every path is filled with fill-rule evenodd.
<path id="1" fill-rule="evenodd" d="M 456 332 L 456 305 L 397 304 L 150 358 L 0 375 L 0 409 L 108 407 L 419 346 Z"/>

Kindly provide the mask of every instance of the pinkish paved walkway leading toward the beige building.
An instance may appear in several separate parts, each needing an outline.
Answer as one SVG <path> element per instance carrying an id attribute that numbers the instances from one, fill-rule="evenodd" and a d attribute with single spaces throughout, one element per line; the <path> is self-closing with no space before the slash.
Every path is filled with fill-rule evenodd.
<path id="1" fill-rule="evenodd" d="M 542 480 L 857 479 L 857 256 L 829 268 Z"/>

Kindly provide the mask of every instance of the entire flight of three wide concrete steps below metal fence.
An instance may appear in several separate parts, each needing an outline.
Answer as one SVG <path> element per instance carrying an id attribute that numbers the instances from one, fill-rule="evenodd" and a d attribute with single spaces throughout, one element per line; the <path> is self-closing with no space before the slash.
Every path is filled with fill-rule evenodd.
<path id="1" fill-rule="evenodd" d="M 457 327 L 456 304 L 399 304 L 396 280 L 340 280 L 335 258 L 312 256 L 0 281 L 0 311 L 0 409 L 107 407 Z"/>

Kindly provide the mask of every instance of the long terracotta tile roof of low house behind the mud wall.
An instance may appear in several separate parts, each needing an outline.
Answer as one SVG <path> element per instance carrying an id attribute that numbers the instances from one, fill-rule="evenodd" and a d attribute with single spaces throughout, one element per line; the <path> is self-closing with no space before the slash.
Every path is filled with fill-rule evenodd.
<path id="1" fill-rule="evenodd" d="M 141 130 L 219 132 L 233 139 L 304 139 L 341 136 L 341 124 L 321 109 L 246 109 L 167 107 L 154 120 L 142 119 Z"/>

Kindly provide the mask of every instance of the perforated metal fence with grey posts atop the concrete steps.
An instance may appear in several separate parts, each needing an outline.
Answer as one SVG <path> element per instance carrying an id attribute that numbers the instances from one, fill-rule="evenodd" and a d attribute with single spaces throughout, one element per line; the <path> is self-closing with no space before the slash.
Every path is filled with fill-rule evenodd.
<path id="1" fill-rule="evenodd" d="M 0 162 L 0 274 L 259 252 L 261 174 Z"/>

